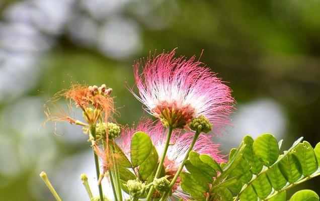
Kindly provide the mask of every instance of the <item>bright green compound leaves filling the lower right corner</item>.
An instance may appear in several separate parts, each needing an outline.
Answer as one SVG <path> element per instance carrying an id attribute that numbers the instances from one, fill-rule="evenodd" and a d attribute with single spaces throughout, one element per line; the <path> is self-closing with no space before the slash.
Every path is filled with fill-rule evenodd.
<path id="1" fill-rule="evenodd" d="M 268 133 L 256 140 L 247 135 L 230 150 L 229 161 L 220 165 L 208 155 L 190 152 L 182 189 L 196 200 L 285 201 L 287 189 L 320 175 L 320 145 L 313 150 L 301 141 L 280 155 L 282 140 Z M 299 191 L 290 200 L 318 200 L 311 192 Z"/>

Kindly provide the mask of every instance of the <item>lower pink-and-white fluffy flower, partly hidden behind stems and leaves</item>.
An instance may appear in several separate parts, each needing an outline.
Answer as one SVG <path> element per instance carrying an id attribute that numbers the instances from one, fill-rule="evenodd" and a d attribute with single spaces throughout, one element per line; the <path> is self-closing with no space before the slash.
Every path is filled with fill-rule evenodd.
<path id="1" fill-rule="evenodd" d="M 161 156 L 163 154 L 166 144 L 166 130 L 164 126 L 160 122 L 154 124 L 150 119 L 141 119 L 136 127 L 127 127 L 123 129 L 121 136 L 118 138 L 118 145 L 127 157 L 130 157 L 130 142 L 133 134 L 137 131 L 142 131 L 148 134 L 158 155 Z M 164 161 L 165 172 L 166 175 L 169 176 L 168 180 L 171 181 L 178 171 L 179 166 L 181 165 L 192 142 L 193 136 L 194 134 L 191 132 L 182 133 L 175 131 L 172 134 L 170 142 L 171 145 L 168 148 L 167 156 Z M 208 154 L 218 163 L 226 162 L 223 158 L 224 156 L 220 153 L 219 147 L 220 144 L 214 143 L 208 135 L 200 134 L 193 151 L 199 154 Z M 188 198 L 188 194 L 183 192 L 179 183 L 180 178 L 177 179 L 173 187 L 173 194 L 183 198 L 184 200 L 190 199 L 190 197 Z"/>

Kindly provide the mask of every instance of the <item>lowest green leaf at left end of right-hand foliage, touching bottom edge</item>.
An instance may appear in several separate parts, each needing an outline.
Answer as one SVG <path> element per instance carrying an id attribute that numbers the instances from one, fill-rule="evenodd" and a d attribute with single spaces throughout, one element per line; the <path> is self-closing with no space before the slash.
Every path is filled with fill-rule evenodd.
<path id="1" fill-rule="evenodd" d="M 188 192 L 191 197 L 199 201 L 205 201 L 206 197 L 204 193 L 207 192 L 208 186 L 204 186 L 198 182 L 190 173 L 181 173 L 181 188 Z"/>

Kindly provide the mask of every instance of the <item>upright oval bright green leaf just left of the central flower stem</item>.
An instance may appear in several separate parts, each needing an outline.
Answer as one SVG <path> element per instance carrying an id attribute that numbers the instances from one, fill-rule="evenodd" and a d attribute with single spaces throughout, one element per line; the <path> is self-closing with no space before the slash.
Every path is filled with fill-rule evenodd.
<path id="1" fill-rule="evenodd" d="M 134 133 L 131 140 L 131 162 L 133 167 L 140 165 L 152 151 L 152 142 L 150 137 L 144 132 Z"/>

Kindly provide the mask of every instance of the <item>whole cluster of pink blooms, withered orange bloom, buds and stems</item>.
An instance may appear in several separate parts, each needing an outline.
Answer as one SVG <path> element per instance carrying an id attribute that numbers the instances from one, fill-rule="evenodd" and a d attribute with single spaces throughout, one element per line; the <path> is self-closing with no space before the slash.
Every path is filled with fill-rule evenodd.
<path id="1" fill-rule="evenodd" d="M 229 124 L 234 104 L 231 90 L 195 57 L 175 58 L 175 51 L 134 64 L 139 95 L 133 89 L 131 92 L 159 121 L 142 118 L 131 128 L 120 128 L 112 122 L 112 89 L 105 84 L 76 84 L 55 95 L 53 103 L 64 96 L 70 105 L 83 111 L 84 122 L 73 119 L 57 104 L 59 113 L 47 110 L 46 114 L 49 120 L 80 125 L 85 134 L 89 133 L 98 197 L 92 195 L 87 176 L 81 178 L 91 200 L 106 199 L 101 184 L 104 178 L 110 181 L 117 201 L 123 200 L 122 190 L 131 201 L 187 200 L 191 197 L 181 187 L 181 174 L 188 172 L 185 164 L 191 151 L 210 156 L 216 163 L 226 162 L 220 144 L 207 133 L 219 133 Z"/>

